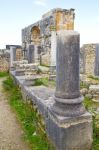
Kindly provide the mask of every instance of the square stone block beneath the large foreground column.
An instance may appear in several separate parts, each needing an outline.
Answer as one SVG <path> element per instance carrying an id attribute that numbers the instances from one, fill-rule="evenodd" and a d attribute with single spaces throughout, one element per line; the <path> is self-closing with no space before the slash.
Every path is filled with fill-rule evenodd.
<path id="1" fill-rule="evenodd" d="M 49 138 L 56 150 L 92 150 L 92 116 L 62 117 L 49 112 L 46 119 Z"/>

